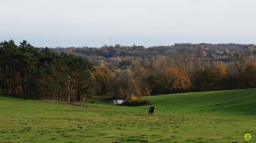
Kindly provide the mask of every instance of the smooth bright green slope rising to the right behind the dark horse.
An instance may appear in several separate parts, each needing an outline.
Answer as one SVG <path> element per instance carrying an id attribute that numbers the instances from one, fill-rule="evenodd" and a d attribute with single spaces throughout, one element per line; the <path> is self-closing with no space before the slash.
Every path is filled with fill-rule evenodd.
<path id="1" fill-rule="evenodd" d="M 256 114 L 256 89 L 168 94 L 148 100 L 165 112 Z"/>

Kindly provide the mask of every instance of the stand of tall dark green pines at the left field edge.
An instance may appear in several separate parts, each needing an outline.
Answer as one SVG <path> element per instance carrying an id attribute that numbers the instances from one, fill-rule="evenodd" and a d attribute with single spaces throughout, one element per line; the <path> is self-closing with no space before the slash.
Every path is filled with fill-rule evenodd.
<path id="1" fill-rule="evenodd" d="M 81 100 L 94 95 L 93 63 L 87 58 L 33 47 L 27 41 L 0 43 L 0 91 L 38 99 Z"/>

